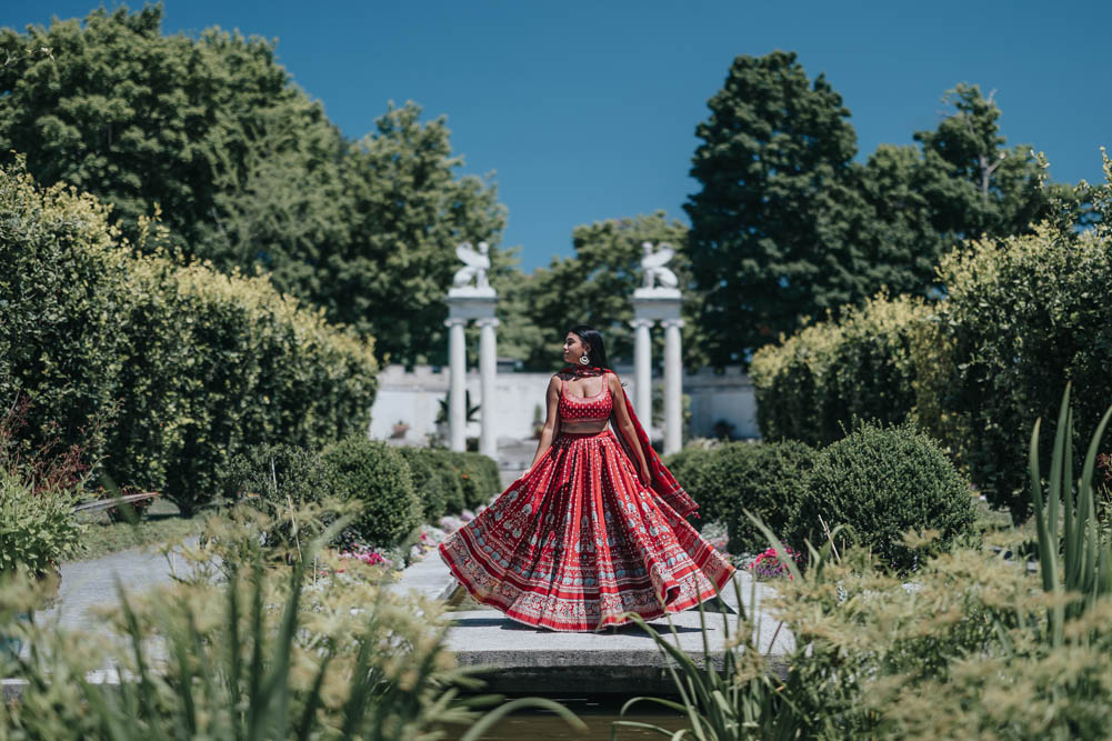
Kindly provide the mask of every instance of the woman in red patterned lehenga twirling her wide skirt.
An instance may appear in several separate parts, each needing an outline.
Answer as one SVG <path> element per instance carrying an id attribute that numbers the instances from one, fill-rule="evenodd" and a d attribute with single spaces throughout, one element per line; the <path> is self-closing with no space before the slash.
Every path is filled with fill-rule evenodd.
<path id="1" fill-rule="evenodd" d="M 477 602 L 557 631 L 713 597 L 734 567 L 684 520 L 697 505 L 649 446 L 602 336 L 574 327 L 564 360 L 533 465 L 440 557 Z"/>

